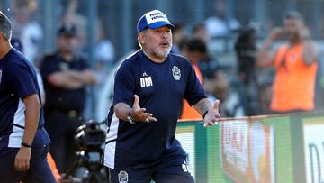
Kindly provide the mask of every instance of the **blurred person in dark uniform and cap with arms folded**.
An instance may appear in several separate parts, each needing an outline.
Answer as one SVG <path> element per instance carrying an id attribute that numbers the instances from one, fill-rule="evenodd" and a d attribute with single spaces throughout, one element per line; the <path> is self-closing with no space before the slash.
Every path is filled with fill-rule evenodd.
<path id="1" fill-rule="evenodd" d="M 76 160 L 74 133 L 85 107 L 85 87 L 95 83 L 94 72 L 85 59 L 76 55 L 76 27 L 64 24 L 58 29 L 58 50 L 45 56 L 40 65 L 46 93 L 45 125 L 53 140 L 50 153 L 60 173 Z"/>

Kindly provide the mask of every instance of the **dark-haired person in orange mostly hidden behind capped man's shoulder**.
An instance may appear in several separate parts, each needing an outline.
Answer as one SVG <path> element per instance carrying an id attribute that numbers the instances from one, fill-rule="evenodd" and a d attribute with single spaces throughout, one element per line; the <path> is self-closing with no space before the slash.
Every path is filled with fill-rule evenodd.
<path id="1" fill-rule="evenodd" d="M 201 60 L 206 54 L 207 48 L 206 44 L 199 39 L 184 39 L 180 43 L 181 55 L 189 59 L 190 63 L 193 65 L 193 69 L 200 83 L 203 83 L 202 73 L 198 68 L 197 62 Z M 191 107 L 187 101 L 184 100 L 182 114 L 180 119 L 199 119 L 202 120 L 202 115 L 199 114 L 193 107 Z"/>

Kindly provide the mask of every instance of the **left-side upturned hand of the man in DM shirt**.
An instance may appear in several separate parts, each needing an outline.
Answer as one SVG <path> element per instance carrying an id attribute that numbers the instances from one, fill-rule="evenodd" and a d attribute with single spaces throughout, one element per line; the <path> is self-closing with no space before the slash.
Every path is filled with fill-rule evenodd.
<path id="1" fill-rule="evenodd" d="M 156 122 L 157 118 L 153 117 L 151 113 L 145 113 L 146 108 L 140 108 L 139 96 L 134 95 L 134 104 L 130 110 L 130 117 L 136 122 Z"/>

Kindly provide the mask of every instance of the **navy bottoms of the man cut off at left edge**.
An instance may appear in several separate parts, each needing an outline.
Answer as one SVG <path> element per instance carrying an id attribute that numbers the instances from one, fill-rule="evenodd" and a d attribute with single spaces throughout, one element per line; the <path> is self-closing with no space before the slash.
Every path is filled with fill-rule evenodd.
<path id="1" fill-rule="evenodd" d="M 14 159 L 19 148 L 0 148 L 0 182 L 2 183 L 55 183 L 55 178 L 49 169 L 46 155 L 49 145 L 32 147 L 30 169 L 17 171 L 14 169 Z"/>

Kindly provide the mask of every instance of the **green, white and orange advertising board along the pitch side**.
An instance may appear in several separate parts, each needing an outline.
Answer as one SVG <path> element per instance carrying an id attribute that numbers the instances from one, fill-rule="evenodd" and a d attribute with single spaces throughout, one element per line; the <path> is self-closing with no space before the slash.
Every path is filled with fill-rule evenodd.
<path id="1" fill-rule="evenodd" d="M 324 182 L 324 113 L 178 124 L 197 183 Z"/>

